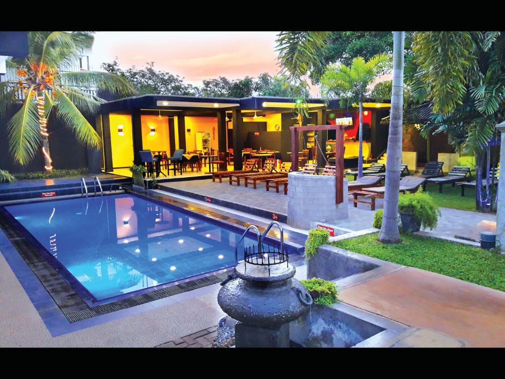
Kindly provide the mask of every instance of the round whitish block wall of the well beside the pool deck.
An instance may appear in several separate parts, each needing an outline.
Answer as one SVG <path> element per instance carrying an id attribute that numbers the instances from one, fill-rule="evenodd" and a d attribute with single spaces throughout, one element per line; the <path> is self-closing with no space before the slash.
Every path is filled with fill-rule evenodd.
<path id="1" fill-rule="evenodd" d="M 344 202 L 335 203 L 335 177 L 330 175 L 288 174 L 287 224 L 309 229 L 311 221 L 325 222 L 348 217 L 347 179 L 344 179 Z"/>

